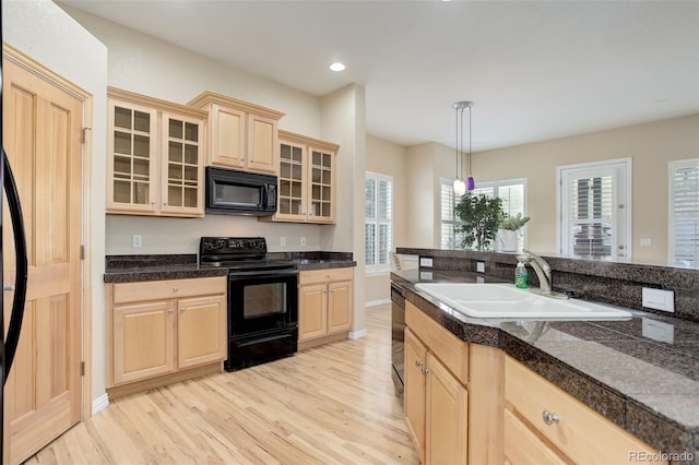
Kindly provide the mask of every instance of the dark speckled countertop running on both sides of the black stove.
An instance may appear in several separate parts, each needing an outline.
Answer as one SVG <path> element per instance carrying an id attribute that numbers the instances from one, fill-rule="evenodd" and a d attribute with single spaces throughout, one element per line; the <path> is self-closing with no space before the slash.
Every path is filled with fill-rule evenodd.
<path id="1" fill-rule="evenodd" d="M 351 253 L 341 252 L 268 253 L 268 259 L 291 261 L 296 264 L 299 271 L 356 266 Z M 228 269 L 225 267 L 199 266 L 194 253 L 108 255 L 105 269 L 105 283 L 188 279 L 228 274 Z"/>

